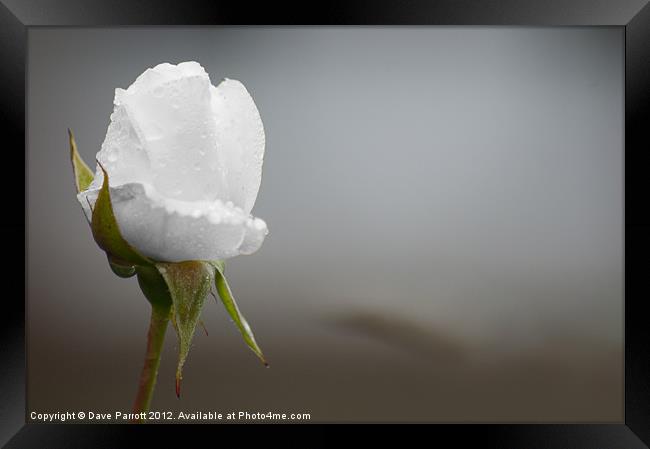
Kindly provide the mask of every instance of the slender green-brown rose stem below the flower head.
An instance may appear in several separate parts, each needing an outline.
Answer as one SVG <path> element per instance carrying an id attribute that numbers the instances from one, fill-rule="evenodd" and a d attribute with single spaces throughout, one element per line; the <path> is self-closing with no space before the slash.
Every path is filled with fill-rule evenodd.
<path id="1" fill-rule="evenodd" d="M 160 365 L 160 353 L 167 323 L 169 323 L 171 307 L 168 305 L 151 306 L 151 322 L 149 323 L 149 334 L 147 335 L 147 352 L 145 354 L 144 366 L 140 373 L 140 386 L 138 395 L 133 404 L 134 413 L 147 413 L 151 405 L 153 390 L 158 377 L 158 366 Z M 136 419 L 135 422 L 143 422 L 143 419 Z"/>

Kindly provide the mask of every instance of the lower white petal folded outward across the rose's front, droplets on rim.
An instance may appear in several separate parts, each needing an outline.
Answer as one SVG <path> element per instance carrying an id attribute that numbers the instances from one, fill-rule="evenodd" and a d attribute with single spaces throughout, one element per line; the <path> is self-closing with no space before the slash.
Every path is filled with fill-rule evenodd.
<path id="1" fill-rule="evenodd" d="M 86 217 L 97 190 L 78 195 Z M 223 260 L 251 254 L 268 234 L 266 223 L 231 202 L 182 201 L 163 197 L 153 186 L 111 187 L 113 211 L 122 236 L 157 261 Z"/>

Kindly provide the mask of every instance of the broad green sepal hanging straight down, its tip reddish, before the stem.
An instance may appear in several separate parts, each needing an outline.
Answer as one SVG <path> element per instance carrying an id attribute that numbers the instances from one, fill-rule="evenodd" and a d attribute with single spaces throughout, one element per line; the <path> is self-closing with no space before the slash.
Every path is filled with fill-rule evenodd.
<path id="1" fill-rule="evenodd" d="M 210 265 L 201 261 L 157 263 L 156 268 L 167 284 L 173 303 L 172 324 L 178 335 L 176 396 L 180 397 L 183 365 L 192 344 L 205 298 L 210 292 L 212 270 Z"/>

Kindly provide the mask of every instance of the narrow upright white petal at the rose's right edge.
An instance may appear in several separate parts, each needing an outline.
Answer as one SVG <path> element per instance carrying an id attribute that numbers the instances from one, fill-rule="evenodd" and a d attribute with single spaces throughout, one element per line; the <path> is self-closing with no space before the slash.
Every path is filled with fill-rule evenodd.
<path id="1" fill-rule="evenodd" d="M 212 87 L 217 148 L 222 156 L 229 199 L 249 213 L 262 180 L 264 126 L 255 102 L 242 83 L 224 79 Z"/>

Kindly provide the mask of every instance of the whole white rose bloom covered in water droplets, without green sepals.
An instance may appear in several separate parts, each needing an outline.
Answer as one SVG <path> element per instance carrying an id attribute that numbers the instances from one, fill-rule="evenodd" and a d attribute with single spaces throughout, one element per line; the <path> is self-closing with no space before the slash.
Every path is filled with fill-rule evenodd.
<path id="1" fill-rule="evenodd" d="M 122 236 L 156 261 L 224 260 L 257 251 L 266 223 L 250 215 L 264 128 L 242 83 L 214 87 L 196 62 L 159 64 L 126 90 L 97 160 L 109 174 Z M 78 194 L 92 218 L 103 175 Z"/>

